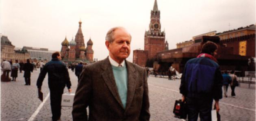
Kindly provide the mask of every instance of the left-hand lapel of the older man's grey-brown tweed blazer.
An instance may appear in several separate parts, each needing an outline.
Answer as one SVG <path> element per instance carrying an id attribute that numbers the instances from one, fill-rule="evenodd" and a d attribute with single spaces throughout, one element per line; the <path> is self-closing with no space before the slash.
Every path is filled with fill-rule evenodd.
<path id="1" fill-rule="evenodd" d="M 122 106 L 122 102 L 121 102 L 121 98 L 118 94 L 118 91 L 117 91 L 117 86 L 116 86 L 116 83 L 115 83 L 115 77 L 114 77 L 114 74 L 113 74 L 113 70 L 112 70 L 112 67 L 111 67 L 111 64 L 108 60 L 108 57 L 106 59 L 103 60 L 103 63 L 102 63 L 102 69 L 104 70 L 104 72 L 102 73 L 102 77 L 106 83 L 106 86 L 108 87 L 108 89 L 110 90 L 110 92 L 112 93 L 112 95 L 115 97 L 115 99 L 117 100 L 117 102 Z"/>

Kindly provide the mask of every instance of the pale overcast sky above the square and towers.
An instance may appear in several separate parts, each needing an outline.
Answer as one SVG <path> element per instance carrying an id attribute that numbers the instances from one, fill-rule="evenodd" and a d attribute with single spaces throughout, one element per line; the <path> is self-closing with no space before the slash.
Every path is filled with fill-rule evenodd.
<path id="1" fill-rule="evenodd" d="M 132 35 L 132 50 L 144 49 L 144 33 L 150 23 L 154 0 L 0 0 L 2 35 L 15 47 L 32 46 L 61 50 L 82 21 L 85 44 L 91 37 L 94 58 L 108 55 L 108 29 L 125 27 Z M 169 49 L 176 43 L 209 31 L 223 32 L 255 24 L 255 0 L 157 0 L 161 29 Z M 229 26 L 230 23 L 230 26 Z"/>

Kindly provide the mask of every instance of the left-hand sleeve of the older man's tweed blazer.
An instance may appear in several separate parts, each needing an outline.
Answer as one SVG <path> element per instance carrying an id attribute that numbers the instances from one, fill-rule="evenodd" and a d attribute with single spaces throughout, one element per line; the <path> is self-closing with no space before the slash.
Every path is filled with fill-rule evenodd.
<path id="1" fill-rule="evenodd" d="M 74 97 L 72 117 L 73 121 L 88 121 L 87 106 L 92 98 L 92 79 L 88 68 L 84 68 L 78 82 Z"/>

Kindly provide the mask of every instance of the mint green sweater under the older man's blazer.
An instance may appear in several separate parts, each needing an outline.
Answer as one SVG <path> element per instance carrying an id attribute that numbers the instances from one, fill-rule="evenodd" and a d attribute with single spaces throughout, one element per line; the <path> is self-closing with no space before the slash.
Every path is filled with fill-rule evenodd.
<path id="1" fill-rule="evenodd" d="M 115 77 L 115 83 L 117 85 L 118 94 L 121 98 L 124 108 L 126 108 L 126 99 L 127 99 L 127 83 L 128 83 L 128 74 L 126 64 L 123 67 L 115 67 L 112 65 L 113 74 Z"/>

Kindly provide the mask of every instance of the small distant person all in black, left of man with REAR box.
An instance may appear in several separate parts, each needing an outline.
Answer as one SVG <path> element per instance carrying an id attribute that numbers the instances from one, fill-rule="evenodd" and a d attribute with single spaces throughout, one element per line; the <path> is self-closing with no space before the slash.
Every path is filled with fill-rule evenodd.
<path id="1" fill-rule="evenodd" d="M 30 85 L 30 75 L 33 72 L 33 65 L 30 63 L 30 59 L 27 59 L 27 63 L 24 64 L 24 78 L 25 78 L 25 85 Z"/>

